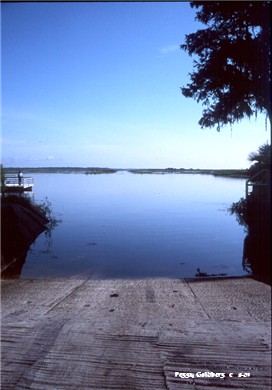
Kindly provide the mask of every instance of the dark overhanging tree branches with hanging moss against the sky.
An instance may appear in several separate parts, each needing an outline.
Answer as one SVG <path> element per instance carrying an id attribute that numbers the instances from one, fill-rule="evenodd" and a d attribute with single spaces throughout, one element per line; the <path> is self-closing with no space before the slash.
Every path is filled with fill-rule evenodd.
<path id="1" fill-rule="evenodd" d="M 181 88 L 205 106 L 202 128 L 221 126 L 271 110 L 269 1 L 193 1 L 207 28 L 186 35 L 181 48 L 194 55 L 191 83 Z"/>

